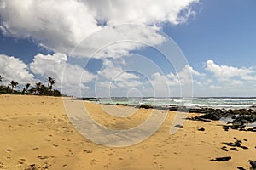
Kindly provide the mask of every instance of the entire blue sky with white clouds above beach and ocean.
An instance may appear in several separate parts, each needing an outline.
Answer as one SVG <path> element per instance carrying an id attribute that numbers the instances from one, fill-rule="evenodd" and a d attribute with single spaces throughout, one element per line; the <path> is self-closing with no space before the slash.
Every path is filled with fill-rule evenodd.
<path id="1" fill-rule="evenodd" d="M 63 94 L 88 97 L 256 96 L 255 8 L 254 0 L 0 0 L 0 83 L 22 89 L 54 77 Z"/>

